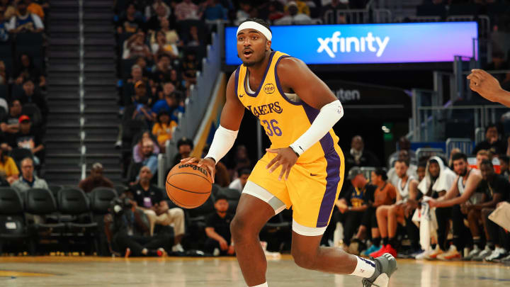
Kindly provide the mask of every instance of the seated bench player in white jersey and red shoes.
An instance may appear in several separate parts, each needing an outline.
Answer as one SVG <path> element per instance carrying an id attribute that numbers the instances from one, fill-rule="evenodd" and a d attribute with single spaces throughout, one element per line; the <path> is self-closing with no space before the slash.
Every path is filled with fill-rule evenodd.
<path id="1" fill-rule="evenodd" d="M 380 256 L 390 253 L 397 256 L 397 223 L 404 223 L 404 204 L 409 195 L 416 198 L 418 181 L 414 176 L 407 175 L 409 169 L 408 162 L 403 159 L 397 159 L 395 162 L 395 173 L 399 177 L 397 181 L 397 202 L 391 206 L 379 206 L 375 211 L 378 221 L 379 232 L 382 239 L 382 248 L 378 252 L 370 254 L 370 256 Z"/>

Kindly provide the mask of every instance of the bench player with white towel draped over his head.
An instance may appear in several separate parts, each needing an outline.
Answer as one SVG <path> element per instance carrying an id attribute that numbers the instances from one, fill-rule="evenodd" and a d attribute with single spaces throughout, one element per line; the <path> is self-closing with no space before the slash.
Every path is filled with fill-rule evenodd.
<path id="1" fill-rule="evenodd" d="M 431 157 L 427 162 L 426 175 L 418 184 L 418 201 L 421 201 L 421 198 L 424 196 L 431 198 L 444 196 L 446 191 L 448 191 L 453 184 L 456 184 L 456 178 L 456 174 L 443 163 L 443 160 L 440 157 Z M 418 201 L 409 201 L 409 206 L 413 209 L 418 208 Z M 416 212 L 418 212 L 418 210 L 416 210 Z M 431 212 L 433 211 L 428 208 L 428 213 L 425 216 L 428 215 L 427 217 L 430 218 Z M 420 225 L 421 224 L 424 223 L 420 222 Z M 429 224 L 429 222 L 427 222 L 427 224 Z M 431 225 L 431 228 L 433 226 L 434 225 Z M 420 237 L 422 236 L 430 235 L 420 235 Z M 440 245 L 442 246 L 442 244 L 436 244 L 436 249 L 427 249 L 426 247 L 423 247 L 425 249 L 424 252 L 417 255 L 416 259 L 436 258 L 438 254 L 443 252 L 441 250 L 443 247 L 440 247 Z"/>

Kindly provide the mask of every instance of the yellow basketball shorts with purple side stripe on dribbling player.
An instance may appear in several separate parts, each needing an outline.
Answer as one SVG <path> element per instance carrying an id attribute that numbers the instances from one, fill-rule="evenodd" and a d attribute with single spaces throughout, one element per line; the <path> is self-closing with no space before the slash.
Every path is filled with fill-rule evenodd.
<path id="1" fill-rule="evenodd" d="M 276 154 L 266 153 L 259 159 L 244 187 L 243 193 L 256 196 L 270 203 L 279 213 L 293 208 L 293 230 L 303 235 L 322 235 L 335 206 L 344 181 L 344 154 L 336 146 L 324 157 L 310 163 L 297 163 L 290 170 L 287 180 L 278 180 L 281 167 L 272 173 L 266 166 Z M 276 197 L 281 206 L 271 204 Z M 296 224 L 297 223 L 297 224 Z M 296 229 L 301 227 L 302 232 Z M 315 229 L 322 232 L 317 234 Z"/>

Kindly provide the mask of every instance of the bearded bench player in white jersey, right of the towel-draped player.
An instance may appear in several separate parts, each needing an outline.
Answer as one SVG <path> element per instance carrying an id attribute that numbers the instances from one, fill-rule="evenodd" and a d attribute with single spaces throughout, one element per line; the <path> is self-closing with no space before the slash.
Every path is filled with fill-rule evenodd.
<path id="1" fill-rule="evenodd" d="M 464 218 L 460 212 L 460 204 L 470 201 L 478 184 L 482 181 L 480 170 L 472 169 L 467 164 L 466 155 L 462 152 L 453 154 L 452 162 L 457 179 L 444 196 L 429 201 L 430 208 L 436 208 L 438 244 L 445 244 L 446 242 L 446 224 L 448 220 L 451 219 L 453 223 L 453 244 L 450 245 L 448 252 L 436 257 L 441 260 L 460 258 L 457 247 L 460 247 L 460 232 L 463 228 Z M 443 245 L 443 247 L 446 246 Z"/>

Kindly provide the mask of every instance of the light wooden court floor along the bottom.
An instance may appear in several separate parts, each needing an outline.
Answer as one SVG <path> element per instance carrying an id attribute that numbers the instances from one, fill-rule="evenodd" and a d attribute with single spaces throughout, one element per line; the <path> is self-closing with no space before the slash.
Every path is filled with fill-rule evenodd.
<path id="1" fill-rule="evenodd" d="M 510 286 L 510 267 L 474 262 L 399 259 L 391 287 Z M 290 256 L 268 261 L 270 287 L 360 286 L 353 276 L 295 266 Z M 244 287 L 234 258 L 0 257 L 0 286 Z"/>

